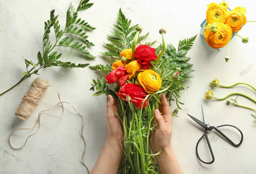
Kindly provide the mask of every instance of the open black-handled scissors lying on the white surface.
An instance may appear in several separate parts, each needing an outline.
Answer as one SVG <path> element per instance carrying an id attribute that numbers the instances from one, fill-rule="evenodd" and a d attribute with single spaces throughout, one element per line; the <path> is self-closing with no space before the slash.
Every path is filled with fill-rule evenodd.
<path id="1" fill-rule="evenodd" d="M 236 126 L 233 126 L 233 125 L 220 125 L 220 126 L 217 126 L 217 127 L 215 127 L 215 126 L 210 126 L 210 125 L 208 124 L 207 115 L 206 115 L 205 112 L 204 112 L 203 104 L 202 104 L 202 110 L 203 110 L 204 122 L 200 121 L 200 120 L 197 119 L 197 118 L 194 118 L 192 115 L 189 115 L 189 114 L 188 114 L 188 115 L 189 115 L 189 117 L 192 118 L 195 122 L 197 122 L 197 124 L 199 124 L 200 126 L 202 126 L 202 127 L 205 129 L 204 135 L 199 139 L 199 141 L 198 141 L 197 144 L 196 144 L 196 155 L 197 155 L 197 158 L 199 158 L 199 160 L 200 160 L 201 162 L 203 162 L 204 164 L 212 164 L 212 163 L 214 162 L 215 158 L 214 158 L 214 154 L 212 153 L 211 144 L 210 144 L 210 141 L 209 141 L 208 136 L 207 136 L 208 132 L 210 132 L 210 131 L 212 131 L 212 129 L 214 129 L 214 130 L 217 131 L 223 138 L 225 138 L 226 140 L 228 140 L 228 142 L 229 142 L 230 144 L 232 144 L 233 146 L 235 146 L 235 147 L 240 146 L 240 144 L 243 142 L 243 133 L 241 132 L 241 130 L 240 130 L 239 128 L 237 128 Z M 232 140 L 229 139 L 229 137 L 227 137 L 224 133 L 222 133 L 222 132 L 218 129 L 218 128 L 223 127 L 223 126 L 231 126 L 231 127 L 233 127 L 233 128 L 236 128 L 236 129 L 240 132 L 240 134 L 241 134 L 241 140 L 240 140 L 240 142 L 239 142 L 238 144 L 234 143 Z M 205 162 L 205 161 L 201 160 L 201 158 L 199 157 L 199 153 L 198 153 L 198 145 L 199 145 L 199 142 L 200 142 L 201 139 L 203 139 L 204 136 L 205 136 L 205 139 L 206 139 L 206 141 L 207 141 L 207 144 L 208 144 L 208 147 L 209 147 L 209 150 L 210 150 L 210 153 L 211 153 L 211 157 L 212 157 L 212 160 L 211 160 L 210 162 Z"/>

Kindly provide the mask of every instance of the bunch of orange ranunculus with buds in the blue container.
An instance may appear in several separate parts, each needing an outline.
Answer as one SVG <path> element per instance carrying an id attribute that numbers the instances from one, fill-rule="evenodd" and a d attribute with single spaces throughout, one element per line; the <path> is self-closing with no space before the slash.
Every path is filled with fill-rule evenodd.
<path id="1" fill-rule="evenodd" d="M 236 7 L 229 9 L 228 3 L 210 3 L 207 5 L 206 19 L 201 23 L 201 34 L 205 37 L 205 42 L 214 49 L 221 49 L 226 46 L 228 56 L 225 57 L 226 62 L 229 60 L 228 43 L 235 35 L 242 38 L 243 43 L 248 42 L 248 37 L 241 37 L 238 31 L 247 23 L 246 8 Z"/>

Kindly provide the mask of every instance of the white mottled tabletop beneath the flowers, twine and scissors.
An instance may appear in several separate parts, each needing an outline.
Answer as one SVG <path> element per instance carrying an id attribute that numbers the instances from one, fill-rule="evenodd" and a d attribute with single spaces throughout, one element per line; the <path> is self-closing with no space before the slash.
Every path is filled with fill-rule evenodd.
<path id="1" fill-rule="evenodd" d="M 89 41 L 95 46 L 89 48 L 96 59 L 84 59 L 77 52 L 60 48 L 62 61 L 74 63 L 109 64 L 111 59 L 103 57 L 99 52 L 106 52 L 104 42 L 108 43 L 107 35 L 114 30 L 118 10 L 132 24 L 143 26 L 143 33 L 149 32 L 145 41 L 161 44 L 158 30 L 167 28 L 165 41 L 178 46 L 179 40 L 191 38 L 197 34 L 193 48 L 189 50 L 189 63 L 193 64 L 193 77 L 187 81 L 188 90 L 181 95 L 182 110 L 179 117 L 174 117 L 172 146 L 184 173 L 256 173 L 256 125 L 251 114 L 254 111 L 244 108 L 228 106 L 225 100 L 206 100 L 205 90 L 213 90 L 215 96 L 226 96 L 230 92 L 241 92 L 256 99 L 256 93 L 247 86 L 236 86 L 232 89 L 212 89 L 209 82 L 218 78 L 223 85 L 236 82 L 246 82 L 256 86 L 256 23 L 247 23 L 242 36 L 248 36 L 250 41 L 243 44 L 239 37 L 234 37 L 228 44 L 230 60 L 225 63 L 226 48 L 214 50 L 210 48 L 200 35 L 200 24 L 205 19 L 207 5 L 212 1 L 92 1 L 94 5 L 78 16 L 86 19 L 96 27 L 88 32 Z M 221 1 L 219 1 L 221 2 Z M 217 3 L 219 3 L 217 2 Z M 18 82 L 26 71 L 23 57 L 37 62 L 37 53 L 42 50 L 42 35 L 44 21 L 49 19 L 50 12 L 55 9 L 62 26 L 66 21 L 66 10 L 70 0 L 0 0 L 0 92 L 10 88 Z M 72 5 L 77 8 L 79 1 L 73 0 Z M 230 1 L 230 8 L 245 6 L 247 20 L 256 20 L 253 1 Z M 26 146 L 20 150 L 13 150 L 9 145 L 9 135 L 16 128 L 29 128 L 37 121 L 38 113 L 53 107 L 57 102 L 57 94 L 53 88 L 46 90 L 39 106 L 26 121 L 15 116 L 16 108 L 22 97 L 30 88 L 31 82 L 39 77 L 48 81 L 59 91 L 62 101 L 72 104 L 85 119 L 84 136 L 87 142 L 85 163 L 89 169 L 93 168 L 104 141 L 107 137 L 106 126 L 106 96 L 94 97 L 91 88 L 92 79 L 102 78 L 103 74 L 86 68 L 51 67 L 39 71 L 26 79 L 16 88 L 0 97 L 0 173 L 85 173 L 81 163 L 84 143 L 81 139 L 82 119 L 70 107 L 65 105 L 61 118 L 47 115 L 41 118 L 40 131 L 30 137 Z M 230 97 L 234 99 L 236 96 Z M 239 103 L 254 107 L 255 103 L 243 97 L 237 97 Z M 243 131 L 244 139 L 240 147 L 233 147 L 211 133 L 210 140 L 215 154 L 215 162 L 202 164 L 196 157 L 196 143 L 203 135 L 203 129 L 192 121 L 187 113 L 203 119 L 201 104 L 204 104 L 211 125 L 231 124 Z M 171 110 L 176 108 L 172 104 Z M 53 115 L 60 115 L 61 109 L 49 111 Z M 12 137 L 15 146 L 21 146 L 26 137 L 37 131 L 37 128 L 27 131 L 17 131 Z"/>

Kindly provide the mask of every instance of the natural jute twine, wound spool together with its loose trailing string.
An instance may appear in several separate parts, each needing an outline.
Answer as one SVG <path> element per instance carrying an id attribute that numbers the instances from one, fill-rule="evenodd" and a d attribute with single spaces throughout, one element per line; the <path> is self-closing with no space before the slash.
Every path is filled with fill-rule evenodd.
<path id="1" fill-rule="evenodd" d="M 37 105 L 38 105 L 38 102 L 41 100 L 42 96 L 43 96 L 44 93 L 45 93 L 45 90 L 46 90 L 49 86 L 51 86 L 51 85 L 49 85 L 48 82 L 45 82 L 44 80 L 42 80 L 42 79 L 40 79 L 40 78 L 35 79 L 35 81 L 33 81 L 33 83 L 31 84 L 30 89 L 28 90 L 28 92 L 26 93 L 26 95 L 23 97 L 23 100 L 24 100 L 24 98 L 25 98 L 25 99 L 26 99 L 26 102 L 23 103 L 24 101 L 22 101 L 22 102 L 20 103 L 20 106 L 22 106 L 22 108 L 23 108 L 21 111 L 23 111 L 24 108 L 27 108 L 27 109 L 33 108 L 33 107 L 34 107 L 34 104 L 37 104 Z M 40 118 L 41 118 L 41 116 L 42 116 L 43 114 L 45 114 L 45 115 L 49 115 L 49 116 L 55 117 L 55 118 L 60 118 L 60 117 L 62 117 L 63 114 L 64 114 L 64 106 L 63 106 L 63 103 L 66 103 L 66 104 L 68 104 L 69 106 L 71 106 L 71 107 L 73 108 L 73 110 L 82 118 L 81 136 L 82 136 L 82 140 L 84 140 L 84 144 L 85 144 L 84 152 L 82 153 L 82 164 L 84 164 L 85 168 L 87 169 L 87 172 L 90 173 L 88 166 L 87 166 L 87 165 L 85 164 L 85 162 L 84 162 L 84 155 L 85 155 L 85 151 L 86 151 L 86 148 L 87 148 L 87 144 L 86 144 L 86 141 L 85 141 L 85 138 L 84 138 L 84 134 L 82 133 L 83 130 L 84 130 L 84 124 L 85 124 L 84 117 L 83 117 L 70 103 L 68 103 L 68 102 L 62 102 L 62 101 L 60 100 L 59 91 L 58 91 L 54 86 L 51 86 L 51 87 L 56 90 L 57 95 L 58 95 L 58 98 L 59 98 L 59 103 L 57 103 L 57 104 L 56 104 L 55 106 L 53 106 L 52 108 L 49 108 L 49 109 L 46 109 L 46 110 L 41 111 L 41 112 L 38 114 L 37 122 L 35 122 L 35 125 L 34 125 L 33 127 L 31 127 L 31 128 L 18 128 L 18 129 L 13 130 L 12 133 L 10 133 L 10 136 L 9 136 L 10 147 L 12 147 L 12 148 L 15 149 L 15 150 L 18 150 L 18 149 L 23 148 L 23 147 L 26 145 L 28 138 L 31 137 L 31 136 L 33 136 L 33 135 L 35 135 L 37 132 L 39 132 L 39 129 L 40 129 Z M 32 88 L 32 89 L 31 89 L 31 88 Z M 31 92 L 31 90 L 32 90 L 32 92 Z M 34 90 L 36 90 L 37 92 L 34 92 Z M 42 92 L 43 90 L 44 90 L 44 92 Z M 34 95 L 31 95 L 31 94 L 34 94 Z M 27 100 L 27 98 L 29 98 L 29 100 Z M 35 101 L 36 101 L 36 102 L 35 102 Z M 30 105 L 30 104 L 31 104 L 32 106 L 26 106 L 26 104 L 27 104 L 27 105 Z M 25 106 L 24 106 L 24 105 L 25 105 Z M 35 107 L 36 107 L 37 105 L 35 105 Z M 61 107 L 62 107 L 62 114 L 61 114 L 60 116 L 55 116 L 55 115 L 51 115 L 51 114 L 45 113 L 46 111 L 50 111 L 50 110 L 52 110 L 53 108 L 55 108 L 56 106 L 59 106 L 59 105 L 61 105 Z M 19 107 L 20 107 L 20 106 L 19 106 Z M 34 107 L 34 108 L 35 108 L 35 107 Z M 34 108 L 33 108 L 33 110 L 34 110 Z M 19 109 L 19 108 L 18 108 L 18 109 Z M 18 109 L 17 109 L 17 110 L 18 110 Z M 31 110 L 31 109 L 30 109 L 30 110 Z M 33 112 L 33 110 L 32 110 L 32 112 Z M 31 112 L 31 114 L 32 114 L 32 112 Z M 16 113 L 17 113 L 17 111 L 16 111 Z M 24 110 L 23 112 L 21 112 L 21 114 L 22 114 L 22 113 L 29 113 L 29 112 L 27 112 L 27 111 Z M 22 116 L 20 116 L 21 114 L 20 114 L 20 112 L 19 112 L 19 116 L 17 115 L 17 117 L 19 117 L 19 118 L 21 117 L 21 119 L 25 118 L 24 120 L 26 120 L 26 119 L 27 119 L 28 117 L 30 117 L 30 115 L 31 115 L 31 114 L 30 114 L 30 115 L 29 115 L 29 114 L 22 114 Z M 29 115 L 29 116 L 28 116 L 28 117 L 24 117 L 24 115 Z M 13 134 L 15 131 L 17 131 L 17 130 L 33 129 L 33 128 L 35 128 L 35 126 L 37 126 L 37 124 L 38 124 L 38 129 L 37 129 L 37 131 L 27 137 L 27 139 L 26 139 L 26 141 L 24 142 L 23 146 L 21 146 L 21 147 L 15 147 L 15 146 L 13 146 L 13 144 L 12 144 L 12 142 L 11 142 L 11 137 L 12 137 L 12 134 Z"/>

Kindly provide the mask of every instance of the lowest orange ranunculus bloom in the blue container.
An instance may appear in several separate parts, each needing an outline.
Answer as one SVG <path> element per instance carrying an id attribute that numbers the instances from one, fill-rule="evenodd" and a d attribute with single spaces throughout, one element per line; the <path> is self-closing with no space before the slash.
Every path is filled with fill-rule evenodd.
<path id="1" fill-rule="evenodd" d="M 211 48 L 218 49 L 226 46 L 230 39 L 232 38 L 232 30 L 227 24 L 217 23 L 218 30 L 217 32 L 211 32 L 210 30 L 204 30 L 205 42 Z M 210 24 L 207 25 L 210 27 Z"/>

